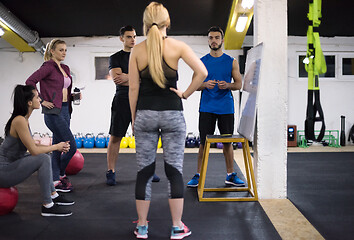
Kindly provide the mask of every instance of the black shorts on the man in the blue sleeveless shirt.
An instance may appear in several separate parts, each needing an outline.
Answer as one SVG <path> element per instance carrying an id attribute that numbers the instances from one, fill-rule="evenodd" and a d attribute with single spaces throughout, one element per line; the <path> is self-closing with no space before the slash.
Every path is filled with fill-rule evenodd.
<path id="1" fill-rule="evenodd" d="M 215 114 L 200 112 L 199 113 L 199 136 L 200 144 L 205 144 L 207 135 L 213 135 L 215 132 L 216 121 L 220 134 L 233 134 L 235 118 L 234 114 Z"/>

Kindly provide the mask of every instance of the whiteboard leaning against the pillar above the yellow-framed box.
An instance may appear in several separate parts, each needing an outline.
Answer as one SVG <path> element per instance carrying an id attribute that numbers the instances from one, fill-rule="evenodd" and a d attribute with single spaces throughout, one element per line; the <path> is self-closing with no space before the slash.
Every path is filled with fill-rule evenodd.
<path id="1" fill-rule="evenodd" d="M 241 117 L 237 132 L 253 142 L 263 43 L 248 50 L 241 95 Z"/>

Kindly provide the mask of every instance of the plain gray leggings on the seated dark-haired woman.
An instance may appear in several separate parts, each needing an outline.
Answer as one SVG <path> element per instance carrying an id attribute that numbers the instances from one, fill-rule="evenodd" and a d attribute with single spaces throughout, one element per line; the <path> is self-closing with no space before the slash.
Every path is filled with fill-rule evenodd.
<path id="1" fill-rule="evenodd" d="M 52 177 L 51 159 L 48 154 L 27 155 L 0 168 L 0 187 L 15 186 L 38 171 L 43 203 L 51 203 L 51 193 L 55 191 Z"/>

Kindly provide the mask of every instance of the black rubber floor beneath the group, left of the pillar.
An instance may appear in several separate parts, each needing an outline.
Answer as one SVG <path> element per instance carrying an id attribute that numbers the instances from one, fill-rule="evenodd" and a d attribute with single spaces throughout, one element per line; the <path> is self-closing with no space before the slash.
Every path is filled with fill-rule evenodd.
<path id="1" fill-rule="evenodd" d="M 75 187 L 66 194 L 76 201 L 71 217 L 41 217 L 36 176 L 18 185 L 19 202 L 13 213 L 0 217 L 0 239 L 135 239 L 135 154 L 121 154 L 118 184 L 105 185 L 106 154 L 84 154 L 84 169 L 70 179 Z M 196 154 L 185 154 L 185 183 L 194 175 Z M 153 183 L 149 239 L 169 239 L 171 217 L 162 154 L 157 156 L 159 183 Z M 207 173 L 210 186 L 223 186 L 222 154 L 211 154 Z M 184 223 L 192 230 L 186 239 L 281 239 L 258 202 L 200 203 L 196 189 L 186 188 Z"/>

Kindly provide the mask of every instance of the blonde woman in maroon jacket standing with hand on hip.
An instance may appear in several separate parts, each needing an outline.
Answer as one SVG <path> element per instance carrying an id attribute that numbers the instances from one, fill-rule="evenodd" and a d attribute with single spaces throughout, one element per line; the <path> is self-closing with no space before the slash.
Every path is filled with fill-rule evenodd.
<path id="1" fill-rule="evenodd" d="M 66 51 L 63 40 L 50 41 L 44 53 L 44 63 L 26 80 L 26 85 L 34 87 L 39 83 L 42 113 L 46 126 L 53 133 L 53 144 L 70 142 L 68 152 L 53 151 L 52 154 L 53 183 L 61 192 L 70 192 L 73 188 L 65 169 L 76 152 L 76 142 L 70 130 L 72 77 L 70 68 L 61 63 Z"/>

